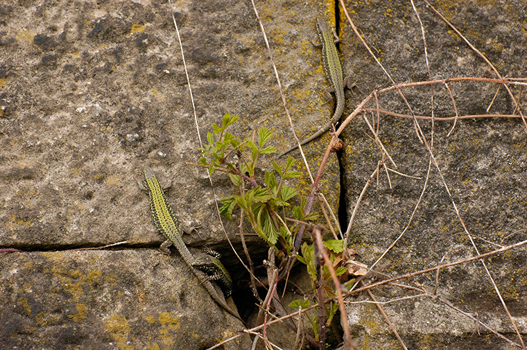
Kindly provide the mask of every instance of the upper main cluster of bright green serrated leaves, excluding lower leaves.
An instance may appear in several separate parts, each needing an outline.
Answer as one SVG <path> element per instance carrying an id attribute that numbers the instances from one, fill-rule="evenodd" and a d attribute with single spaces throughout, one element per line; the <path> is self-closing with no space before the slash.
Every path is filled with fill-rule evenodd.
<path id="1" fill-rule="evenodd" d="M 305 198 L 298 195 L 297 189 L 285 184 L 286 179 L 300 177 L 300 172 L 292 170 L 295 159 L 289 157 L 284 166 L 273 161 L 274 171 L 265 171 L 264 179 L 258 179 L 256 169 L 261 155 L 276 152 L 273 146 L 266 146 L 272 134 L 267 128 L 257 131 L 257 140 L 246 138 L 240 141 L 225 131 L 238 116 L 225 114 L 221 127 L 212 125 L 213 132 L 207 133 L 207 144 L 200 148 L 200 165 L 214 171 L 227 173 L 232 184 L 239 188 L 239 195 L 231 195 L 221 200 L 221 213 L 232 220 L 232 212 L 239 208 L 245 214 L 254 231 L 275 247 L 281 243 L 280 250 L 286 254 L 293 249 L 295 222 L 288 225 L 286 218 L 295 220 L 316 220 L 318 215 L 304 216 Z M 293 205 L 297 200 L 298 205 Z"/>

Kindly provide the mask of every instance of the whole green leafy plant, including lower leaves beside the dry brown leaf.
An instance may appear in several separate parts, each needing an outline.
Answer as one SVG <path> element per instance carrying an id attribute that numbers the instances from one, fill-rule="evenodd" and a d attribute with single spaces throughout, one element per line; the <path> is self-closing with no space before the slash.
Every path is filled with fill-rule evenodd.
<path id="1" fill-rule="evenodd" d="M 233 212 L 240 210 L 250 222 L 254 231 L 263 238 L 270 247 L 275 247 L 278 259 L 290 259 L 294 251 L 293 243 L 299 229 L 299 222 L 317 220 L 317 213 L 306 212 L 306 198 L 299 195 L 299 191 L 286 180 L 300 177 L 300 173 L 293 170 L 295 159 L 289 157 L 284 165 L 273 161 L 273 170 L 264 172 L 263 178 L 257 176 L 260 157 L 276 152 L 273 146 L 266 146 L 272 137 L 267 128 L 257 130 L 257 137 L 242 140 L 235 137 L 227 128 L 239 119 L 238 116 L 225 114 L 222 125 L 212 125 L 212 132 L 207 133 L 207 144 L 200 148 L 202 157 L 200 166 L 209 170 L 226 173 L 239 191 L 238 195 L 230 195 L 221 200 L 221 213 L 232 220 Z M 291 220 L 293 218 L 293 220 Z M 329 251 L 331 264 L 335 266 L 336 274 L 341 276 L 347 272 L 343 267 L 343 240 L 326 240 L 325 248 Z M 335 297 L 335 287 L 331 282 L 331 274 L 327 265 L 315 259 L 313 245 L 304 243 L 301 246 L 302 255 L 297 259 L 306 265 L 311 277 L 311 286 L 318 292 L 318 308 L 325 312 L 306 313 L 313 331 L 320 333 L 319 317 L 325 317 L 322 324 L 329 326 L 333 320 L 338 304 L 333 301 L 324 304 L 325 297 Z M 276 265 L 282 265 L 276 264 Z M 285 264 L 286 265 L 286 264 Z M 271 283 L 271 282 L 270 282 Z M 322 299 L 320 299 L 322 297 Z M 296 300 L 289 306 L 293 308 L 309 308 L 311 301 Z M 323 335 L 321 335 L 323 338 Z"/>

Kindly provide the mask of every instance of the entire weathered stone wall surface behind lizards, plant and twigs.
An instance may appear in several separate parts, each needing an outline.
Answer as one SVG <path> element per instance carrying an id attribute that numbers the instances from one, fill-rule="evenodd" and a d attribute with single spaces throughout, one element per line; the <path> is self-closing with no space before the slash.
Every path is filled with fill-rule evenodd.
<path id="1" fill-rule="evenodd" d="M 432 79 L 495 77 L 437 15 L 415 3 L 424 23 Z M 273 144 L 279 151 L 291 146 L 291 130 L 250 2 L 178 1 L 174 6 L 202 137 L 230 112 L 242 118 L 232 133 L 245 137 L 265 125 L 276 134 Z M 304 139 L 331 116 L 320 50 L 309 39 L 315 35 L 315 17 L 331 24 L 334 11 L 318 1 L 264 1 L 257 6 L 295 128 Z M 430 79 L 410 3 L 350 1 L 347 6 L 396 82 Z M 524 1 L 439 1 L 437 6 L 503 76 L 525 76 Z M 346 91 L 349 114 L 370 91 L 388 87 L 390 81 L 343 18 L 340 14 L 339 49 L 345 72 L 358 80 L 357 89 Z M 0 55 L 0 249 L 24 251 L 0 256 L 0 344 L 19 349 L 193 350 L 236 334 L 241 324 L 207 297 L 177 254 L 157 252 L 162 236 L 150 218 L 148 196 L 137 186 L 144 164 L 152 165 L 162 181 L 173 180 L 168 196 L 178 216 L 186 225 L 202 225 L 199 234 L 184 239 L 195 248 L 207 244 L 220 250 L 227 268 L 236 272 L 206 174 L 187 164 L 198 161 L 199 142 L 168 3 L 4 1 Z M 497 89 L 486 82 L 449 87 L 460 115 L 486 114 Z M 519 87 L 511 89 L 518 96 Z M 404 93 L 415 114 L 431 114 L 430 87 Z M 444 87 L 435 85 L 434 98 L 435 116 L 454 115 Z M 395 92 L 379 96 L 379 105 L 408 114 Z M 500 89 L 490 113 L 514 110 L 510 96 Z M 525 239 L 524 124 L 519 119 L 463 120 L 447 137 L 452 125 L 435 122 L 433 152 L 478 250 Z M 420 126 L 430 142 L 431 123 L 420 121 Z M 390 188 L 383 170 L 379 182 L 370 186 L 351 238 L 360 260 L 369 264 L 407 225 L 429 164 L 411 121 L 381 116 L 379 130 L 397 171 L 420 179 L 390 173 Z M 371 136 L 357 117 L 342 135 L 347 144 L 340 158 L 343 182 L 335 155 L 321 181 L 320 191 L 332 207 L 345 189 L 341 204 L 346 207 L 340 213 L 348 217 L 381 159 L 365 134 Z M 328 141 L 325 134 L 304 147 L 311 171 L 316 172 Z M 291 155 L 298 157 L 298 152 Z M 297 167 L 303 170 L 304 164 Z M 233 193 L 225 177 L 215 180 L 218 197 Z M 300 184 L 309 191 L 308 177 Z M 236 225 L 225 225 L 238 243 Z M 75 250 L 122 241 L 126 243 L 115 250 Z M 248 247 L 251 252 L 266 250 L 259 238 L 248 238 Z M 383 272 L 405 274 L 437 265 L 443 257 L 456 261 L 474 254 L 433 166 L 411 227 L 381 261 L 388 262 Z M 526 248 L 485 262 L 525 335 Z M 435 275 L 416 281 L 433 290 Z M 383 301 L 410 293 L 397 287 L 373 292 Z M 442 270 L 438 295 L 519 341 L 481 262 Z M 244 314 L 252 301 L 239 305 Z M 408 349 L 508 349 L 506 342 L 438 299 L 395 301 L 385 308 Z M 399 347 L 374 306 L 349 304 L 348 322 L 358 349 Z M 291 333 L 286 336 L 294 342 Z M 248 349 L 245 337 L 224 349 Z M 279 344 L 286 347 L 288 342 Z"/>

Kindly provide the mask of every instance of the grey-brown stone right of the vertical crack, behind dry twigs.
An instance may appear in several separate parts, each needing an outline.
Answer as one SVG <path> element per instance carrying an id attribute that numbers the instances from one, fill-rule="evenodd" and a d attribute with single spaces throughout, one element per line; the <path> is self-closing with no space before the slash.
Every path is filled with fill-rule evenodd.
<path id="1" fill-rule="evenodd" d="M 431 65 L 432 79 L 462 76 L 496 78 L 490 67 L 458 35 L 447 27 L 424 3 L 416 2 L 422 17 Z M 494 64 L 503 76 L 525 76 L 527 48 L 523 19 L 519 13 L 525 3 L 476 3 L 465 1 L 450 5 L 437 1 L 434 6 L 451 21 Z M 420 25 L 411 4 L 400 1 L 374 1 L 350 6 L 352 18 L 368 44 L 396 82 L 431 80 L 426 70 Z M 372 9 L 377 9 L 373 12 Z M 349 26 L 344 27 L 343 49 L 348 69 L 356 72 L 361 100 L 374 87 L 388 87 L 390 82 L 370 55 L 359 44 Z M 349 64 L 351 62 L 351 64 Z M 460 115 L 512 114 L 515 106 L 503 87 L 490 112 L 485 110 L 494 98 L 498 85 L 485 82 L 450 83 Z M 516 98 L 519 87 L 510 86 Z M 404 89 L 416 115 L 431 115 L 431 87 Z M 444 85 L 434 87 L 435 117 L 454 116 L 451 98 Z M 521 100 L 524 100 L 522 97 Z M 370 103 L 368 107 L 375 107 Z M 410 114 L 397 94 L 379 96 L 383 110 Z M 524 111 L 524 113 L 527 111 Z M 368 115 L 371 120 L 372 116 Z M 419 121 L 428 143 L 431 122 Z M 489 252 L 499 245 L 526 239 L 527 227 L 527 132 L 519 119 L 469 119 L 458 121 L 448 136 L 453 121 L 435 121 L 433 154 L 479 252 Z M 381 152 L 362 116 L 344 133 L 347 148 L 343 155 L 348 213 L 356 203 L 368 177 L 381 160 Z M 420 177 L 412 179 L 386 171 L 375 177 L 358 210 L 352 229 L 352 247 L 361 253 L 360 260 L 371 265 L 401 234 L 420 198 L 429 166 L 429 152 L 416 136 L 413 121 L 381 114 L 379 139 L 397 168 L 392 169 Z M 426 191 L 415 212 L 411 226 L 379 265 L 392 277 L 424 268 L 458 261 L 477 255 L 460 224 L 438 169 L 431 167 Z M 485 259 L 513 319 L 524 335 L 527 333 L 527 263 L 526 247 Z M 382 277 L 379 277 L 382 278 Z M 402 281 L 401 281 L 402 282 Z M 427 290 L 435 287 L 435 274 L 404 281 L 422 283 Z M 414 285 L 415 286 L 415 285 Z M 381 301 L 416 295 L 415 290 L 383 287 L 373 290 Z M 481 320 L 494 331 L 519 343 L 492 282 L 481 261 L 441 270 L 438 296 Z M 349 298 L 349 301 L 359 301 Z M 474 320 L 449 308 L 438 299 L 418 297 L 383 305 L 408 349 L 509 349 L 503 340 L 478 326 Z M 348 320 L 358 349 L 399 349 L 376 306 L 350 304 Z"/>

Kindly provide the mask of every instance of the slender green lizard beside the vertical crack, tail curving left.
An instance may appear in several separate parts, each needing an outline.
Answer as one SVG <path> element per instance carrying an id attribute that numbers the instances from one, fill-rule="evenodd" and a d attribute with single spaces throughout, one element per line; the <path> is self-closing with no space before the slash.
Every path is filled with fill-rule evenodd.
<path id="1" fill-rule="evenodd" d="M 344 87 L 347 85 L 347 78 L 344 78 L 342 62 L 340 61 L 340 55 L 338 55 L 338 51 L 335 46 L 335 44 L 337 42 L 340 42 L 340 40 L 338 39 L 336 34 L 328 28 L 326 22 L 321 21 L 318 18 L 317 33 L 318 39 L 322 43 L 322 66 L 324 67 L 324 73 L 326 74 L 327 80 L 329 80 L 329 82 L 331 83 L 331 90 L 334 90 L 335 92 L 336 106 L 335 113 L 331 117 L 331 121 L 328 121 L 327 124 L 320 128 L 318 132 L 309 137 L 309 139 L 305 139 L 304 141 L 300 142 L 300 145 L 302 146 L 308 142 L 313 141 L 321 134 L 327 132 L 327 130 L 331 128 L 331 125 L 335 124 L 344 112 Z M 334 37 L 336 38 L 336 40 L 334 40 Z M 320 44 L 316 46 L 320 46 Z M 298 148 L 298 145 L 289 148 L 288 150 L 286 150 L 286 152 L 279 155 L 279 157 L 282 157 L 283 155 L 288 152 L 291 152 L 292 150 L 295 150 L 295 148 Z"/>

